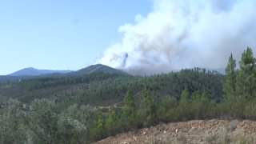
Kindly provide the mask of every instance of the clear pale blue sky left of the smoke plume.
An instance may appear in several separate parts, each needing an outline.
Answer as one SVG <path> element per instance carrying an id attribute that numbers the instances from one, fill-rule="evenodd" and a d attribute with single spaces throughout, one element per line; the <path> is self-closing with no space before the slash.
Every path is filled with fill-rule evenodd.
<path id="1" fill-rule="evenodd" d="M 25 67 L 78 70 L 118 42 L 118 27 L 150 0 L 0 1 L 0 74 Z"/>

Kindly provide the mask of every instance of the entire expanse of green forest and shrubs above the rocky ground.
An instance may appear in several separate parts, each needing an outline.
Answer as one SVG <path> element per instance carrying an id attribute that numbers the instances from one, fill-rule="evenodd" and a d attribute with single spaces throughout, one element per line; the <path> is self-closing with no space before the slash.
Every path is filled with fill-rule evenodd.
<path id="1" fill-rule="evenodd" d="M 89 74 L 0 86 L 0 143 L 85 143 L 127 130 L 210 118 L 256 118 L 250 48 L 226 75 L 195 68 L 152 77 Z"/>

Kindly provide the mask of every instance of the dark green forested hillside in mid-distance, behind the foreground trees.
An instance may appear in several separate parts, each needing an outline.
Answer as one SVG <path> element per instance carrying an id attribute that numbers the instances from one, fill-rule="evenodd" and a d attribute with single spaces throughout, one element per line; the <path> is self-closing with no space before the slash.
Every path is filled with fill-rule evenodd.
<path id="1" fill-rule="evenodd" d="M 150 77 L 99 72 L 2 84 L 0 96 L 18 98 L 22 102 L 51 98 L 58 102 L 108 105 L 121 102 L 128 90 L 140 95 L 146 86 L 156 98 L 171 96 L 178 99 L 182 90 L 186 89 L 191 94 L 195 91 L 210 94 L 214 101 L 219 101 L 222 98 L 222 78 L 222 74 L 199 68 Z"/>

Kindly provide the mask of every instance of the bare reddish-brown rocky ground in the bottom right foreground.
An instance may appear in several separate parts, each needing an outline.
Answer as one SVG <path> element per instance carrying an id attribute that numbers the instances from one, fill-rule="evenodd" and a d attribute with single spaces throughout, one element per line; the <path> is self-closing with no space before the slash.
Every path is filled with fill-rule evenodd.
<path id="1" fill-rule="evenodd" d="M 115 137 L 95 144 L 254 144 L 256 122 L 207 120 L 160 124 Z"/>

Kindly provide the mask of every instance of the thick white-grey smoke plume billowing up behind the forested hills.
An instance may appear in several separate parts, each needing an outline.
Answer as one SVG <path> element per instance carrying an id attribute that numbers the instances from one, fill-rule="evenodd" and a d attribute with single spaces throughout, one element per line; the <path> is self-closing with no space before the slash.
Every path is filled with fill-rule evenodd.
<path id="1" fill-rule="evenodd" d="M 255 10 L 255 0 L 154 0 L 150 14 L 120 26 L 122 41 L 100 63 L 134 74 L 224 68 L 231 52 L 256 53 Z"/>

